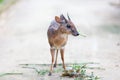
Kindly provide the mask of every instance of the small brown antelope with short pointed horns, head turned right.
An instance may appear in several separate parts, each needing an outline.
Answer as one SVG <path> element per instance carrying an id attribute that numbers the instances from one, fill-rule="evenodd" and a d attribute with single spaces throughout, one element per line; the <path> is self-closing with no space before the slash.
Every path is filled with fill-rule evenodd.
<path id="1" fill-rule="evenodd" d="M 48 42 L 50 45 L 50 52 L 52 57 L 49 76 L 52 75 L 53 67 L 56 67 L 57 65 L 57 57 L 58 57 L 59 50 L 61 53 L 63 68 L 65 70 L 64 47 L 67 43 L 68 35 L 69 34 L 72 34 L 73 36 L 79 35 L 75 25 L 71 21 L 68 14 L 67 14 L 67 17 L 68 19 L 66 19 L 63 14 L 61 14 L 60 17 L 55 16 L 55 20 L 51 22 L 47 31 Z M 54 63 L 55 51 L 56 51 L 56 58 Z"/>

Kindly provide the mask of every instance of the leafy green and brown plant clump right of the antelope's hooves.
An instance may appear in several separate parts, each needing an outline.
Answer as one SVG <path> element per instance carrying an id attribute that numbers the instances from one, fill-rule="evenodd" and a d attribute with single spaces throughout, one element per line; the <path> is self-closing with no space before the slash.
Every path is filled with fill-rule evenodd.
<path id="1" fill-rule="evenodd" d="M 92 63 L 93 64 L 93 63 Z M 96 76 L 94 72 L 91 72 L 91 74 L 88 74 L 88 69 L 102 69 L 100 67 L 89 67 L 86 63 L 81 64 L 73 64 L 70 65 L 70 69 L 66 70 L 62 76 L 69 76 L 69 77 L 75 77 L 74 80 L 100 80 L 100 77 Z"/>

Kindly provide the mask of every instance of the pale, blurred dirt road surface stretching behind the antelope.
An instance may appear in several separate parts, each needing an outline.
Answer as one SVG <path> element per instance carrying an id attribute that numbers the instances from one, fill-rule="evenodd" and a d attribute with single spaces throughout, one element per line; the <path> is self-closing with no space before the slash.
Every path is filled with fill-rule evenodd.
<path id="1" fill-rule="evenodd" d="M 69 36 L 65 62 L 98 62 L 105 68 L 96 71 L 102 80 L 119 80 L 120 8 L 111 2 L 115 1 L 19 0 L 0 16 L 0 72 L 23 63 L 50 64 L 47 28 L 55 15 L 68 12 L 87 37 Z"/>

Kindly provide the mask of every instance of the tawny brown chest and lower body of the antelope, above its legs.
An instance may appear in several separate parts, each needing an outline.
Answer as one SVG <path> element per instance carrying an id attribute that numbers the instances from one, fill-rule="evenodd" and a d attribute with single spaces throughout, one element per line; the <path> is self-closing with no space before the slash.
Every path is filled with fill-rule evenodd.
<path id="1" fill-rule="evenodd" d="M 63 29 L 64 30 L 64 29 Z M 68 34 L 62 29 L 58 29 L 54 32 L 48 30 L 48 41 L 51 47 L 61 48 L 64 47 L 68 39 Z"/>

